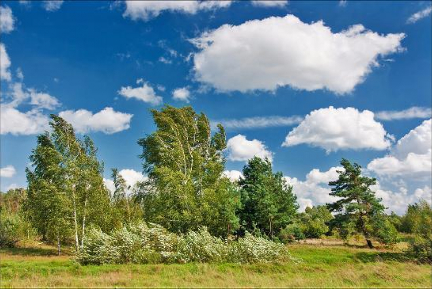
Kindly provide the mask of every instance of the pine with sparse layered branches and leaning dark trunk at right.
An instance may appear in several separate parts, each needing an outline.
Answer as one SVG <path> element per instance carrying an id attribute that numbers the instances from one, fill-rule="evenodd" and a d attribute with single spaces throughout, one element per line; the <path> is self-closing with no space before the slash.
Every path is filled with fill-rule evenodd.
<path id="1" fill-rule="evenodd" d="M 327 204 L 330 212 L 337 213 L 333 222 L 340 227 L 349 227 L 352 222 L 356 231 L 366 239 L 367 246 L 373 248 L 371 238 L 377 237 L 376 224 L 384 218 L 385 207 L 381 199 L 375 196 L 371 186 L 376 184 L 375 178 L 361 176 L 361 166 L 351 164 L 342 159 L 344 170 L 338 170 L 336 181 L 329 182 L 331 196 L 339 199 Z"/>

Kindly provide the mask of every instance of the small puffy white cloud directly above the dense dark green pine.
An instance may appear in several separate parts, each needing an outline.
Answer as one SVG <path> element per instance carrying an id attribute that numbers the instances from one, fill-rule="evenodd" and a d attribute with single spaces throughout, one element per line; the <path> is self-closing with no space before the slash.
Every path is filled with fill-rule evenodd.
<path id="1" fill-rule="evenodd" d="M 228 159 L 232 161 L 248 161 L 257 156 L 268 158 L 271 162 L 273 153 L 267 150 L 264 142 L 258 139 L 248 140 L 246 136 L 238 134 L 227 141 Z"/>

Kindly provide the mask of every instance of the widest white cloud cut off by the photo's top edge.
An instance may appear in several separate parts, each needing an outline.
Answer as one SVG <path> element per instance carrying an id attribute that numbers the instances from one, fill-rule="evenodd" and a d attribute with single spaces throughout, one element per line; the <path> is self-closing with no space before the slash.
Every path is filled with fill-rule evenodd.
<path id="1" fill-rule="evenodd" d="M 126 1 L 124 17 L 148 21 L 163 11 L 195 14 L 200 10 L 213 10 L 231 5 L 231 1 Z"/>

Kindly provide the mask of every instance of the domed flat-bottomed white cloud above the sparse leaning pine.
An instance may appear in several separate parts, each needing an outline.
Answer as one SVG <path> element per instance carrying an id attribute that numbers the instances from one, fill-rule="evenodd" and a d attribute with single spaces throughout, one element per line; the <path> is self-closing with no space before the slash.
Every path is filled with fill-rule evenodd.
<path id="1" fill-rule="evenodd" d="M 321 108 L 311 111 L 287 135 L 283 147 L 308 143 L 327 152 L 347 149 L 384 150 L 391 145 L 391 136 L 374 120 L 369 110 L 355 108 Z"/>

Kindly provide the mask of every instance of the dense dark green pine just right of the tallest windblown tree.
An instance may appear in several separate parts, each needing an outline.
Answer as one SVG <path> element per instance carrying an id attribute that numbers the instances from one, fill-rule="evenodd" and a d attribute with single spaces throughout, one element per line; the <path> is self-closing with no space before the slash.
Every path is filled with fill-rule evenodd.
<path id="1" fill-rule="evenodd" d="M 273 174 L 271 163 L 253 157 L 243 167 L 239 180 L 240 219 L 250 232 L 257 226 L 273 239 L 274 234 L 288 225 L 298 209 L 297 197 L 283 178 L 282 172 Z"/>

